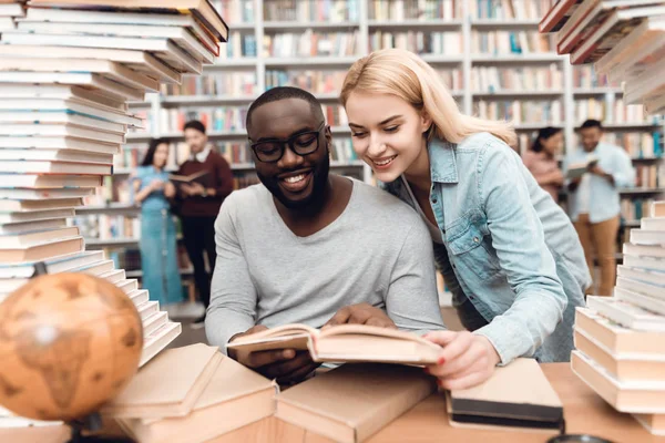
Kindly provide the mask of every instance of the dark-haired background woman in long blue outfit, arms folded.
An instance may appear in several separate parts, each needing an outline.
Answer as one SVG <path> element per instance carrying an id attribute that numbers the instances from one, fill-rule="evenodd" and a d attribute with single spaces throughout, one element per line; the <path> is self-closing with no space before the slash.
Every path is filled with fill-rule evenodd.
<path id="1" fill-rule="evenodd" d="M 167 159 L 168 142 L 152 140 L 133 179 L 134 203 L 141 205 L 143 287 L 162 307 L 183 300 L 175 224 L 167 200 L 175 195 L 175 187 L 164 171 Z"/>

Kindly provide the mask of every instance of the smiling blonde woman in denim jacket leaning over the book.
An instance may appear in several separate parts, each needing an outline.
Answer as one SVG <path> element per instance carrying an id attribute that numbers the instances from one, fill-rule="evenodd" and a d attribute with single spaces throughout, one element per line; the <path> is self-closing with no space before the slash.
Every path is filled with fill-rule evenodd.
<path id="1" fill-rule="evenodd" d="M 382 50 L 358 60 L 341 91 L 354 150 L 430 228 L 436 261 L 464 327 L 438 331 L 428 370 L 440 385 L 482 382 L 518 357 L 567 361 L 590 281 L 565 213 L 509 146 L 509 124 L 463 115 L 434 70 Z"/>

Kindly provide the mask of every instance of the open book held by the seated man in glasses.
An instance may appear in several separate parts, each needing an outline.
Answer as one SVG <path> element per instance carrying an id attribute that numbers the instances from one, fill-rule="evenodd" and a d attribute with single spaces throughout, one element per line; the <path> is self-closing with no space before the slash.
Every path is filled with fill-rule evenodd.
<path id="1" fill-rule="evenodd" d="M 341 324 L 318 330 L 285 324 L 235 339 L 237 352 L 272 349 L 309 351 L 316 362 L 436 363 L 441 348 L 419 336 L 365 324 Z"/>

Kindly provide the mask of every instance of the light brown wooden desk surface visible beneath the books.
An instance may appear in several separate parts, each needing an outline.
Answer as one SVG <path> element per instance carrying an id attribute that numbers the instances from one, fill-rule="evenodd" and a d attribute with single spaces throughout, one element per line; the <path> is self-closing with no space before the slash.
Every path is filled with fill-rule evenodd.
<path id="1" fill-rule="evenodd" d="M 665 443 L 665 436 L 649 434 L 630 414 L 618 413 L 605 403 L 573 374 L 569 363 L 543 364 L 542 369 L 563 401 L 569 433 L 593 434 L 615 443 Z M 383 427 L 367 442 L 543 443 L 548 437 L 548 434 L 534 432 L 452 427 L 448 423 L 443 395 L 434 394 Z M 0 430 L 0 442 L 63 443 L 65 441 L 66 430 L 62 426 L 55 426 L 53 430 Z M 328 443 L 331 441 L 275 418 L 268 418 L 209 443 L 236 442 Z"/>

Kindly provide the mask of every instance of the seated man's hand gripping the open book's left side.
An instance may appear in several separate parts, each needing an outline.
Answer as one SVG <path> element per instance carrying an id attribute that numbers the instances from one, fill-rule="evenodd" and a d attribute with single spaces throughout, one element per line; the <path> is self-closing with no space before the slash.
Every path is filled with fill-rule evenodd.
<path id="1" fill-rule="evenodd" d="M 268 328 L 263 324 L 255 326 L 245 332 L 233 336 L 229 342 L 233 342 L 238 337 L 248 336 L 266 329 Z M 229 349 L 228 357 L 247 368 L 252 368 L 270 380 L 277 379 L 277 383 L 279 384 L 300 381 L 319 365 L 319 363 L 311 361 L 309 352 L 296 352 L 294 349 L 275 349 L 257 352 L 243 352 Z"/>

